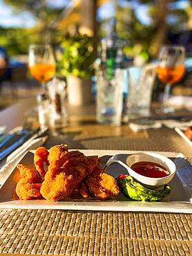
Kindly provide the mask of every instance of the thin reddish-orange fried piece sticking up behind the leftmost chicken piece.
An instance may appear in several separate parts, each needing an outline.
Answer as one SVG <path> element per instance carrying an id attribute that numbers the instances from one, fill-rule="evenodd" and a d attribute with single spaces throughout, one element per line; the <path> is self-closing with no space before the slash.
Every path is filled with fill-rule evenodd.
<path id="1" fill-rule="evenodd" d="M 45 147 L 38 147 L 35 150 L 34 154 L 34 164 L 37 172 L 39 173 L 39 176 L 41 178 L 41 181 L 44 181 L 46 171 L 44 170 L 44 163 L 46 165 L 49 165 L 48 163 L 48 150 Z"/>

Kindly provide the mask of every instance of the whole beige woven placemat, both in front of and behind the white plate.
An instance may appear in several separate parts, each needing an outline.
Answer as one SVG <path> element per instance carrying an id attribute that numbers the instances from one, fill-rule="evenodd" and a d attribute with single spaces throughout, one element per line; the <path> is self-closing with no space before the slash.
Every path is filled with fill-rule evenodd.
<path id="1" fill-rule="evenodd" d="M 47 146 L 57 143 L 79 149 L 182 152 L 189 158 L 192 150 L 171 129 L 137 136 L 75 132 L 52 136 Z M 191 255 L 191 243 L 191 214 L 0 210 L 0 255 Z"/>

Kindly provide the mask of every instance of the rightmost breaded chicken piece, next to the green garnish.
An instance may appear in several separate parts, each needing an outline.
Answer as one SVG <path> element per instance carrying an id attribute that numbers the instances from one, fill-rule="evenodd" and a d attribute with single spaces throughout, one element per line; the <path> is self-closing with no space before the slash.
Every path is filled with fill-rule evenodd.
<path id="1" fill-rule="evenodd" d="M 84 179 L 88 190 L 95 194 L 98 199 L 109 199 L 119 194 L 119 187 L 113 176 L 104 172 L 102 167 L 97 165 L 93 172 Z"/>

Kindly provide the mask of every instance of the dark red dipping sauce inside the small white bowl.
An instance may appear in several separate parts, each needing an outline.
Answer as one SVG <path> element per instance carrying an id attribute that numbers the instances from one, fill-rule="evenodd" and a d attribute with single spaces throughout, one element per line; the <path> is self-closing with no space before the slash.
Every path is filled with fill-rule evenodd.
<path id="1" fill-rule="evenodd" d="M 163 178 L 169 176 L 168 170 L 162 165 L 153 162 L 137 162 L 131 165 L 131 169 L 137 172 L 137 174 L 141 174 L 150 178 Z"/>

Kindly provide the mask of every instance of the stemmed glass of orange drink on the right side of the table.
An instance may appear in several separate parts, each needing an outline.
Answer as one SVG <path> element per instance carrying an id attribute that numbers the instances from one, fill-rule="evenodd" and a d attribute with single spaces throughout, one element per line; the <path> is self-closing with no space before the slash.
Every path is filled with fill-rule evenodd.
<path id="1" fill-rule="evenodd" d="M 173 112 L 168 107 L 171 85 L 178 82 L 184 75 L 185 51 L 182 46 L 163 46 L 157 64 L 157 77 L 165 84 L 162 111 Z"/>

